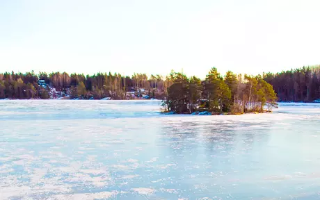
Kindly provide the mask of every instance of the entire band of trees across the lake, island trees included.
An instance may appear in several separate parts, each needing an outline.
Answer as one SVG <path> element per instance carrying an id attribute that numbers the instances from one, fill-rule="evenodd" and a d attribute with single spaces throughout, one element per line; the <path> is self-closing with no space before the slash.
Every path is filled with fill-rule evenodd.
<path id="1" fill-rule="evenodd" d="M 270 84 L 270 85 L 269 85 Z M 272 87 L 271 87 L 272 85 Z M 273 90 L 275 94 L 273 94 Z M 166 99 L 168 110 L 191 113 L 261 110 L 278 101 L 311 102 L 320 98 L 320 67 L 302 67 L 277 74 L 248 76 L 212 68 L 205 80 L 179 72 L 160 75 L 97 73 L 93 76 L 65 72 L 6 72 L 0 74 L 0 99 Z M 201 101 L 201 102 L 200 102 Z"/>

